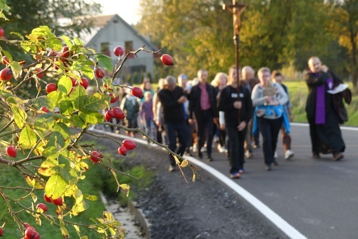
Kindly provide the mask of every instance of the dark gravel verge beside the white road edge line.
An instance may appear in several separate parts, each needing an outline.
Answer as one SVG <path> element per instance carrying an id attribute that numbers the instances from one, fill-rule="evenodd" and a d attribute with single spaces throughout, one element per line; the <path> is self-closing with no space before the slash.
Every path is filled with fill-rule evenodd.
<path id="1" fill-rule="evenodd" d="M 117 143 L 104 138 L 101 138 L 101 144 L 108 149 L 118 148 Z M 156 173 L 150 187 L 136 191 L 136 202 L 150 222 L 151 238 L 287 238 L 249 203 L 210 174 L 200 171 L 204 179 L 193 183 L 192 173 L 187 168 L 186 183 L 178 169 L 168 171 L 165 151 L 137 145 L 135 154 L 125 156 L 126 162 L 147 165 Z"/>

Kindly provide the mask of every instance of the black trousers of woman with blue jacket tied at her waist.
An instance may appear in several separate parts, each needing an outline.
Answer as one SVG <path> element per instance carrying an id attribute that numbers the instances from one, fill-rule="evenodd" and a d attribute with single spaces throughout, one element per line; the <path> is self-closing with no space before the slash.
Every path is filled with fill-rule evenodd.
<path id="1" fill-rule="evenodd" d="M 257 117 L 257 123 L 262 135 L 262 150 L 264 152 L 265 164 L 271 165 L 277 146 L 277 138 L 282 125 L 282 117 L 268 119 Z"/>

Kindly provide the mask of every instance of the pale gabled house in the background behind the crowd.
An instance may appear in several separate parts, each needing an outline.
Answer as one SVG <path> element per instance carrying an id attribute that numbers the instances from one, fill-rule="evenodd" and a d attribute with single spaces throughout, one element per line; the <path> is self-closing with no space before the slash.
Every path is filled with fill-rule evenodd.
<path id="1" fill-rule="evenodd" d="M 158 50 L 149 39 L 141 36 L 118 14 L 94 16 L 91 17 L 91 21 L 93 21 L 91 34 L 81 34 L 81 40 L 86 47 L 111 56 L 114 63 L 118 60 L 113 53 L 117 45 L 121 45 L 125 53 L 138 50 L 143 45 L 147 50 Z M 131 58 L 125 61 L 120 75 L 127 76 L 134 72 L 138 75 L 147 75 L 147 72 L 150 72 L 151 76 L 154 76 L 154 54 L 141 51 L 137 56 L 131 55 Z"/>

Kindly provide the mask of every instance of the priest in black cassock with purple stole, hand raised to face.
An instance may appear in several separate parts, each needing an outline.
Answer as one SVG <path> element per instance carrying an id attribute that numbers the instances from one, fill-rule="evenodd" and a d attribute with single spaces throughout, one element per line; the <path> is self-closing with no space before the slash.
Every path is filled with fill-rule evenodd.
<path id="1" fill-rule="evenodd" d="M 310 141 L 312 143 L 312 158 L 320 158 L 319 153 L 332 154 L 333 160 L 344 158 L 342 154 L 346 145 L 341 136 L 339 118 L 333 105 L 333 90 L 335 85 L 343 83 L 326 65 L 322 65 L 317 56 L 308 60 L 309 70 L 305 74 L 308 86 L 306 115 L 310 125 Z"/>

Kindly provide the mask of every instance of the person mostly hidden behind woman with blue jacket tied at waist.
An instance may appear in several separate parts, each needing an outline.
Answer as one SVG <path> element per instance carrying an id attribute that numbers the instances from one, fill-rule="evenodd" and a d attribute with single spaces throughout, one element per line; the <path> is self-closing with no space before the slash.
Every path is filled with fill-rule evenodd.
<path id="1" fill-rule="evenodd" d="M 293 121 L 292 114 L 291 114 L 292 104 L 290 101 L 290 95 L 288 94 L 288 88 L 286 85 L 284 85 L 284 83 L 282 83 L 283 76 L 280 72 L 274 70 L 271 74 L 271 79 L 273 82 L 279 83 L 284 88 L 284 92 L 286 92 L 287 94 L 288 101 L 286 104 L 284 104 L 284 112 L 286 116 L 288 116 L 288 121 L 292 122 Z M 281 126 L 281 135 L 282 135 L 282 146 L 284 147 L 284 152 L 285 152 L 284 158 L 287 160 L 295 156 L 295 154 L 291 150 L 291 135 L 287 134 L 286 130 L 284 130 L 284 125 Z"/>

